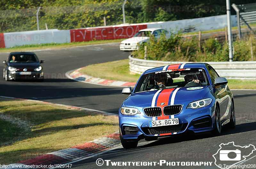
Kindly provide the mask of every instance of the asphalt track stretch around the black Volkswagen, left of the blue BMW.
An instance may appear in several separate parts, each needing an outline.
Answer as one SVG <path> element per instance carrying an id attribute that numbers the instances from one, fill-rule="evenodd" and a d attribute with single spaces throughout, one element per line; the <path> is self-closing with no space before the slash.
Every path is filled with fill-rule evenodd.
<path id="1" fill-rule="evenodd" d="M 114 60 L 128 59 L 129 52 L 118 50 L 118 44 L 83 46 L 67 49 L 35 51 L 39 60 L 44 60 L 44 82 L 0 80 L 0 95 L 24 99 L 54 102 L 88 109 L 117 113 L 127 95 L 122 88 L 104 87 L 76 82 L 65 73 L 80 67 Z M 6 60 L 9 53 L 0 53 L 0 60 Z M 3 74 L 4 64 L 0 64 Z"/>

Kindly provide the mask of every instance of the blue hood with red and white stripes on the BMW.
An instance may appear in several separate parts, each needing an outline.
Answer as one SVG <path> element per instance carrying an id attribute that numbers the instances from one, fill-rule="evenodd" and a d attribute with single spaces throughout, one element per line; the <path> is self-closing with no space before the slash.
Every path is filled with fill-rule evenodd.
<path id="1" fill-rule="evenodd" d="M 187 88 L 170 88 L 148 92 L 131 94 L 125 101 L 125 106 L 151 107 L 164 105 L 181 104 L 187 101 L 196 101 L 203 99 L 210 91 L 209 86 L 187 87 Z"/>

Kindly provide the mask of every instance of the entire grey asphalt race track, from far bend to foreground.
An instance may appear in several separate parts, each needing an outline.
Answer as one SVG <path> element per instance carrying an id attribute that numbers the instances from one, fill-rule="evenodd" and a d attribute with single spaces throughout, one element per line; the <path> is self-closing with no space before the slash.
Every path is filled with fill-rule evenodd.
<path id="1" fill-rule="evenodd" d="M 127 95 L 121 95 L 122 88 L 69 80 L 65 77 L 65 73 L 90 64 L 128 58 L 129 53 L 120 51 L 118 46 L 119 44 L 105 44 L 36 51 L 39 59 L 45 61 L 42 64 L 44 74 L 49 78 L 45 79 L 44 82 L 4 81 L 1 78 L 0 95 L 117 113 L 122 101 L 127 97 Z M 0 53 L 0 59 L 6 60 L 8 54 Z M 1 74 L 3 74 L 3 65 L 0 67 Z M 164 137 L 151 142 L 141 140 L 136 149 L 124 150 L 122 146 L 119 146 L 104 154 L 72 163 L 72 168 L 218 168 L 214 164 L 213 155 L 218 152 L 221 143 L 228 144 L 229 142 L 234 142 L 235 145 L 242 147 L 252 144 L 250 147 L 244 148 L 245 151 L 241 151 L 241 160 L 244 159 L 243 156 L 247 155 L 249 156 L 246 157 L 246 160 L 254 157 L 256 151 L 252 151 L 252 147 L 256 145 L 256 90 L 232 90 L 232 92 L 235 101 L 236 128 L 224 128 L 219 137 L 186 135 Z M 236 149 L 236 146 L 231 145 L 229 150 Z M 234 153 L 231 152 L 231 155 Z M 230 157 L 230 153 L 226 156 Z M 107 165 L 107 161 L 104 161 L 102 166 L 98 166 L 96 164 L 98 158 L 110 160 L 108 161 L 109 165 Z M 160 160 L 165 160 L 162 161 L 162 166 Z M 114 167 L 111 162 L 126 162 L 126 166 Z M 208 162 L 208 166 L 204 166 L 204 164 L 193 166 L 196 162 L 198 164 L 199 162 Z M 167 166 L 167 164 L 171 166 Z M 225 168 L 228 163 L 223 163 L 219 157 L 216 158 L 216 164 Z M 241 165 L 247 165 L 244 168 L 256 168 L 255 164 L 256 158 L 251 158 Z"/>

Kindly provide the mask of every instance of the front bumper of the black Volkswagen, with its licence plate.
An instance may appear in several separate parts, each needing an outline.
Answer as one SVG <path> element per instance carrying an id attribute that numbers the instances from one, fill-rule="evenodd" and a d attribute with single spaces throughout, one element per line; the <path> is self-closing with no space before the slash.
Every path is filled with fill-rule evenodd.
<path id="1" fill-rule="evenodd" d="M 32 71 L 30 72 L 23 72 L 23 71 L 8 71 L 7 72 L 7 79 L 8 80 L 40 80 L 44 79 L 44 72 L 43 71 Z"/>

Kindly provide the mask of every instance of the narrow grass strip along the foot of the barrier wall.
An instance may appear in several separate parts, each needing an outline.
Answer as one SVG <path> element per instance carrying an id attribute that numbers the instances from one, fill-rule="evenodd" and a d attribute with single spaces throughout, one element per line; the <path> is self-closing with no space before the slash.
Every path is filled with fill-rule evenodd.
<path id="1" fill-rule="evenodd" d="M 115 43 L 121 42 L 124 39 L 114 39 L 114 40 L 92 40 L 87 42 L 71 42 L 71 43 L 47 43 L 47 44 L 36 44 L 36 45 L 23 45 L 23 46 L 15 46 L 12 48 L 0 48 L 0 53 L 3 52 L 17 52 L 17 51 L 29 51 L 29 50 L 38 50 L 38 49 L 55 49 L 55 48 L 65 48 L 72 46 L 84 46 L 84 45 L 96 45 L 96 44 L 104 44 L 104 43 Z"/>

